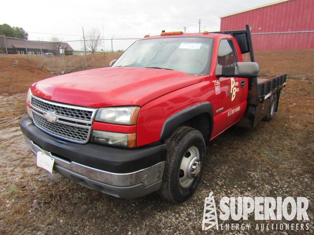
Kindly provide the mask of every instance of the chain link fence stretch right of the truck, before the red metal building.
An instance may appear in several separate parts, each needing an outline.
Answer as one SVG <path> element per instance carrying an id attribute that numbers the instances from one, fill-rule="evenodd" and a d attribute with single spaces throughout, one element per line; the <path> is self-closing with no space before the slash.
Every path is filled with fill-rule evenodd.
<path id="1" fill-rule="evenodd" d="M 252 43 L 262 75 L 314 79 L 314 31 L 252 34 Z M 243 59 L 250 61 L 249 53 Z"/>

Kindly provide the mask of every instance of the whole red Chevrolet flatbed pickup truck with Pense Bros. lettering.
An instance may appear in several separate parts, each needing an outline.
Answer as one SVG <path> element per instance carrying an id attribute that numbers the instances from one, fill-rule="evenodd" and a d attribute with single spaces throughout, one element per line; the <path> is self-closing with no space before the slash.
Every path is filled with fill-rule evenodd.
<path id="1" fill-rule="evenodd" d="M 286 75 L 257 79 L 252 61 L 248 25 L 146 35 L 111 67 L 34 83 L 21 131 L 50 172 L 121 198 L 158 191 L 184 201 L 200 181 L 206 143 L 277 111 Z"/>

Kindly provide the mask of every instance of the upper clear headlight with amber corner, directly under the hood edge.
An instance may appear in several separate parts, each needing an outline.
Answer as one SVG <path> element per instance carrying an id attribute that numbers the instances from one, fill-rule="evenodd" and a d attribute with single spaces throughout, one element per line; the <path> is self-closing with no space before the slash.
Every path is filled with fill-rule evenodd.
<path id="1" fill-rule="evenodd" d="M 135 125 L 139 109 L 140 107 L 138 106 L 100 108 L 96 114 L 95 121 Z"/>

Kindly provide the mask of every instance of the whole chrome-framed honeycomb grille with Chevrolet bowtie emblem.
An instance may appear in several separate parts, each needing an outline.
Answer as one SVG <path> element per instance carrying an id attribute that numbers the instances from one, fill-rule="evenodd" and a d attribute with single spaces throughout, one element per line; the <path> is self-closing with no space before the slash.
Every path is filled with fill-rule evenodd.
<path id="1" fill-rule="evenodd" d="M 69 141 L 89 140 L 95 108 L 78 107 L 31 97 L 34 124 L 41 130 Z"/>

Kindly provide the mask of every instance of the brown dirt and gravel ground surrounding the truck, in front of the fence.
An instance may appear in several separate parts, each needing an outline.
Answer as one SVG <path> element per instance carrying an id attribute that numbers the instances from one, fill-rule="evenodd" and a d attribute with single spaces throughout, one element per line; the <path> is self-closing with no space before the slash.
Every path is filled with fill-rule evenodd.
<path id="1" fill-rule="evenodd" d="M 0 234 L 314 234 L 313 79 L 288 79 L 272 121 L 232 127 L 209 143 L 196 192 L 171 204 L 157 193 L 118 199 L 38 168 L 19 119 L 27 88 L 51 74 L 22 59 L 14 70 L 14 58 L 0 58 Z M 310 221 L 277 223 L 308 223 L 310 229 L 255 230 L 261 222 L 249 217 L 238 223 L 251 223 L 250 230 L 202 231 L 211 191 L 216 204 L 222 196 L 307 197 Z"/>

